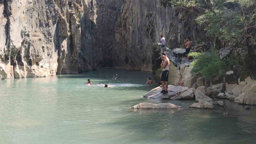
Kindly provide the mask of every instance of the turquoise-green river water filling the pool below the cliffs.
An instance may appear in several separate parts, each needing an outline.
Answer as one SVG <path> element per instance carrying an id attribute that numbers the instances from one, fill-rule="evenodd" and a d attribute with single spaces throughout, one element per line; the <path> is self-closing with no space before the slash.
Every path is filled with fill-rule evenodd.
<path id="1" fill-rule="evenodd" d="M 158 86 L 146 85 L 147 77 L 152 73 L 99 69 L 2 80 L 0 143 L 255 143 L 255 107 L 225 101 L 226 108 L 194 109 L 193 100 L 146 99 Z M 131 109 L 142 102 L 184 109 Z"/>

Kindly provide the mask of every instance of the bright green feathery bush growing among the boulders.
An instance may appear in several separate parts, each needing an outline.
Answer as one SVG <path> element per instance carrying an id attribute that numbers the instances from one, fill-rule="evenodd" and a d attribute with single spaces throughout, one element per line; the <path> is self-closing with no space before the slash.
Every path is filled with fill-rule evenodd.
<path id="1" fill-rule="evenodd" d="M 215 76 L 224 76 L 228 70 L 226 63 L 220 60 L 217 51 L 213 48 L 208 53 L 191 52 L 189 56 L 195 59 L 191 63 L 190 71 L 193 76 L 205 76 L 206 80 L 211 80 Z"/>

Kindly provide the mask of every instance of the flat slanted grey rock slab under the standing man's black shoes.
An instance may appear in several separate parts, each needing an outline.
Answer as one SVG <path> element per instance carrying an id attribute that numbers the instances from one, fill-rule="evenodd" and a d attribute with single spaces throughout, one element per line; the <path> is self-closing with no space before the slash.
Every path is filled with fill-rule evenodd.
<path id="1" fill-rule="evenodd" d="M 170 99 L 171 97 L 177 96 L 182 94 L 188 90 L 188 87 L 184 86 L 173 86 L 168 85 L 168 93 L 162 94 L 162 87 L 158 86 L 151 90 L 150 92 L 146 93 L 143 97 L 152 98 L 152 99 Z"/>

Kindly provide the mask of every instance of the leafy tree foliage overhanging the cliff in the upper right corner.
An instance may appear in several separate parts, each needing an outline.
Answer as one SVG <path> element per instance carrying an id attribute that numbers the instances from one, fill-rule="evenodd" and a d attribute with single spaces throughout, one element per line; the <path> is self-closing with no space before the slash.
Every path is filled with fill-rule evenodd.
<path id="1" fill-rule="evenodd" d="M 241 49 L 246 56 L 236 64 L 245 64 L 244 70 L 256 72 L 255 0 L 162 0 L 162 3 L 197 15 L 197 23 L 215 49 L 232 47 L 235 50 L 231 56 L 239 55 L 236 49 Z"/>

